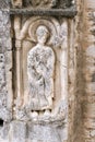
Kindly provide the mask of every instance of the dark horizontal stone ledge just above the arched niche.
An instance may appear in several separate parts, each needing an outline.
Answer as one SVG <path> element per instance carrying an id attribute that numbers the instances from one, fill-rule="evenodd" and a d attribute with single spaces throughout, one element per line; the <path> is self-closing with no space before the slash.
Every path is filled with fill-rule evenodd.
<path id="1" fill-rule="evenodd" d="M 21 14 L 21 15 L 52 15 L 52 16 L 64 16 L 73 17 L 76 15 L 75 7 L 70 7 L 68 9 L 11 9 L 10 14 Z"/>

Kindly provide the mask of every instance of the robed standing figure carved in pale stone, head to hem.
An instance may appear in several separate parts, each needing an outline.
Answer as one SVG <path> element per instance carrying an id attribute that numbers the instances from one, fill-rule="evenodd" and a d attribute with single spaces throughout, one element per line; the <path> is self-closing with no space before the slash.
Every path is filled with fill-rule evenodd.
<path id="1" fill-rule="evenodd" d="M 49 31 L 40 25 L 36 31 L 38 44 L 27 55 L 28 96 L 32 110 L 46 110 L 52 107 L 55 54 L 45 43 Z"/>

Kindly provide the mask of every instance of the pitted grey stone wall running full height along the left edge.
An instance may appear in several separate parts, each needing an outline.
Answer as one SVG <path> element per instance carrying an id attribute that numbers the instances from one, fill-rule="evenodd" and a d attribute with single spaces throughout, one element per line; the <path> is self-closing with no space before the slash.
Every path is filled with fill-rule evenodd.
<path id="1" fill-rule="evenodd" d="M 9 4 L 0 0 L 0 142 L 9 140 L 7 122 L 12 120 L 12 83 L 9 83 L 9 79 L 12 80 L 10 23 Z"/>

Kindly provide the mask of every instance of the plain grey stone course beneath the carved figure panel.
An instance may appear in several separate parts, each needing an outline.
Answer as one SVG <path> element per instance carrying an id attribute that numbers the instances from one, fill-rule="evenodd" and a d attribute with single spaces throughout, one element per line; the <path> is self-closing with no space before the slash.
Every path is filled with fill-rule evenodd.
<path id="1" fill-rule="evenodd" d="M 62 142 L 67 140 L 67 126 L 62 123 L 61 128 L 55 125 L 35 123 L 24 121 L 12 121 L 7 128 L 7 142 Z M 8 133 L 9 130 L 9 133 Z M 5 138 L 7 138 L 5 137 Z M 2 139 L 5 140 L 5 139 Z"/>

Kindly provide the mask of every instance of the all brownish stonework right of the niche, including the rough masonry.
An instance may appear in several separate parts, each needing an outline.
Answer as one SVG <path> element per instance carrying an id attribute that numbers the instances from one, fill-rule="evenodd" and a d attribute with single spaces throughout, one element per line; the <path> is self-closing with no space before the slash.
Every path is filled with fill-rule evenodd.
<path id="1" fill-rule="evenodd" d="M 95 2 L 78 0 L 75 17 L 76 78 L 70 98 L 70 142 L 95 141 Z M 72 79 L 72 78 L 71 78 Z M 70 84 L 72 84 L 70 82 Z M 74 85 L 73 85 L 74 86 Z M 73 87 L 71 87 L 73 88 Z M 73 105 L 74 104 L 74 105 Z M 75 110 L 72 113 L 72 109 Z M 72 116 L 72 117 L 71 117 Z M 72 131 L 73 130 L 73 131 Z"/>

